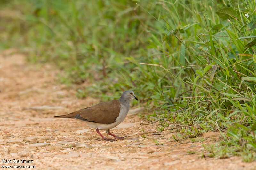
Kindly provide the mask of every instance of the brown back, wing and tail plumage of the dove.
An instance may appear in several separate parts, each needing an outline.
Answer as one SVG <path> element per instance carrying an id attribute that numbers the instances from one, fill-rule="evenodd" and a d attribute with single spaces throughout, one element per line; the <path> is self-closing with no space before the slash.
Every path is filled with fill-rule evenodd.
<path id="1" fill-rule="evenodd" d="M 117 99 L 77 110 L 67 115 L 54 116 L 54 118 L 77 118 L 89 122 L 110 124 L 116 121 L 119 113 L 120 100 Z"/>

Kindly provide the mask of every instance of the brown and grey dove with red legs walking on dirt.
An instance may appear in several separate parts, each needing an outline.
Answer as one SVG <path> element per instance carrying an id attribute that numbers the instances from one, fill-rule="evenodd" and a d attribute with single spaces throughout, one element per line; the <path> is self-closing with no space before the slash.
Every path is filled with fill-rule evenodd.
<path id="1" fill-rule="evenodd" d="M 91 128 L 107 141 L 115 141 L 116 139 L 125 139 L 110 132 L 110 129 L 116 127 L 124 121 L 129 109 L 131 100 L 138 98 L 132 90 L 126 90 L 117 100 L 102 102 L 91 107 L 69 113 L 67 115 L 54 116 L 54 118 L 72 118 L 86 122 Z M 108 135 L 115 137 L 108 139 L 104 137 L 99 130 L 105 130 Z"/>

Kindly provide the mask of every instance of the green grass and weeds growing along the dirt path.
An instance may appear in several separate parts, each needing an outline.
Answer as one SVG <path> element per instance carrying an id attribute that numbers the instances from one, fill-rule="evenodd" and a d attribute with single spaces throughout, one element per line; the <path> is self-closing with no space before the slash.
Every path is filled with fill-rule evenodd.
<path id="1" fill-rule="evenodd" d="M 182 127 L 176 140 L 220 131 L 216 147 L 206 146 L 211 156 L 252 161 L 255 3 L 1 1 L 0 49 L 55 63 L 66 84 L 89 83 L 77 89 L 81 98 L 110 100 L 133 89 L 158 131 L 172 122 Z"/>

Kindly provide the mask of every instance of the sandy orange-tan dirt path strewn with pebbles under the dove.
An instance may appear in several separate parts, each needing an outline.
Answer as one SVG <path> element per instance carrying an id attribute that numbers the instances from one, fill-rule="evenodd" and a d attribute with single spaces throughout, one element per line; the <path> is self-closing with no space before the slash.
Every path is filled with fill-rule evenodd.
<path id="1" fill-rule="evenodd" d="M 256 162 L 241 158 L 201 158 L 204 142 L 172 142 L 171 130 L 157 132 L 157 123 L 129 114 L 111 130 L 127 135 L 125 140 L 107 142 L 85 123 L 54 119 L 96 104 L 90 97 L 76 98 L 75 87 L 59 85 L 58 70 L 50 65 L 32 66 L 23 55 L 0 55 L 0 155 L 2 165 L 35 165 L 36 169 L 256 169 Z M 136 91 L 136 90 L 135 90 Z M 144 132 L 143 132 L 144 129 Z M 103 132 L 103 131 L 102 131 Z M 104 135 L 107 134 L 104 132 Z M 109 136 L 108 136 L 109 137 Z M 172 139 L 173 140 L 173 139 Z M 156 144 L 157 141 L 159 145 Z M 163 143 L 164 145 L 162 145 Z M 195 151 L 188 154 L 187 151 Z M 12 160 L 12 163 L 3 163 Z M 15 163 L 33 160 L 33 163 Z"/>

